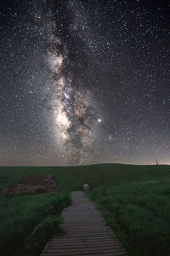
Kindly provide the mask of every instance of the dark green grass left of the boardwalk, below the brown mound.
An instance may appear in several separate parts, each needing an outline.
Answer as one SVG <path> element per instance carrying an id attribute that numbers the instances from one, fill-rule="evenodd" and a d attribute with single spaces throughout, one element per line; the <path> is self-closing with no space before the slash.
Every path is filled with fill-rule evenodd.
<path id="1" fill-rule="evenodd" d="M 51 236 L 62 234 L 59 215 L 69 204 L 68 193 L 1 196 L 0 255 L 39 255 Z"/>

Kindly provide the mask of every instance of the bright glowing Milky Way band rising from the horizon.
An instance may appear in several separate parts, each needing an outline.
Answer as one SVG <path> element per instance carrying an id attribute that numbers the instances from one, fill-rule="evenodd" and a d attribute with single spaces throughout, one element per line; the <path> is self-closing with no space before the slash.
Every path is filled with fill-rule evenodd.
<path id="1" fill-rule="evenodd" d="M 70 3 L 67 3 L 67 6 L 64 4 L 63 8 L 71 8 Z M 78 81 L 81 84 L 77 84 L 77 72 L 82 66 L 82 60 L 71 52 L 68 40 L 65 41 L 65 31 L 59 33 L 53 9 L 54 2 L 50 2 L 49 6 L 47 2 L 42 2 L 40 17 L 45 31 L 42 39 L 47 44 L 49 70 L 46 83 L 50 91 L 48 108 L 54 121 L 53 129 L 59 154 L 64 155 L 68 163 L 71 160 L 73 163 L 82 163 L 94 147 L 97 132 L 95 123 L 99 109 L 95 106 L 92 92 L 85 88 L 82 80 Z M 70 27 L 71 25 L 68 28 L 72 38 L 71 44 L 77 44 L 80 38 L 74 35 L 74 30 Z"/>

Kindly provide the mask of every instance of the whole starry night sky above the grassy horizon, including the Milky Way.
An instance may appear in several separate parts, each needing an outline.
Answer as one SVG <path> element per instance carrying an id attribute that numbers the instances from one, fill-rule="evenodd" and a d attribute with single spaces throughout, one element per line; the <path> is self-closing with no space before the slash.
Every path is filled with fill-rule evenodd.
<path id="1" fill-rule="evenodd" d="M 170 164 L 167 0 L 0 3 L 0 166 Z"/>

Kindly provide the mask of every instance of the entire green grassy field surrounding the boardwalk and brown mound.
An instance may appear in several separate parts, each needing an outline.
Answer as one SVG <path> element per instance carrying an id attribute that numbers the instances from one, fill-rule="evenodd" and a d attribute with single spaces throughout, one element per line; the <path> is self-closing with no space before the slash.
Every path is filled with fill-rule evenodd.
<path id="1" fill-rule="evenodd" d="M 24 174 L 53 174 L 60 191 L 0 196 L 0 255 L 38 255 L 83 183 L 130 256 L 170 255 L 170 166 L 0 167 L 0 188 Z"/>

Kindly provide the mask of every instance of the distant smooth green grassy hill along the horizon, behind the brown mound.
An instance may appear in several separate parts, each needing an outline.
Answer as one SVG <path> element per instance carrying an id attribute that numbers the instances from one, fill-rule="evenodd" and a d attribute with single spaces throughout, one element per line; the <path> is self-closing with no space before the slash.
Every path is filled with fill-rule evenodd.
<path id="1" fill-rule="evenodd" d="M 109 187 L 122 183 L 133 183 L 170 177 L 170 166 L 133 166 L 122 164 L 100 164 L 92 166 L 0 166 L 0 187 L 14 183 L 24 174 L 53 174 L 59 181 L 60 190 L 82 189 L 89 183 L 91 189 Z"/>

